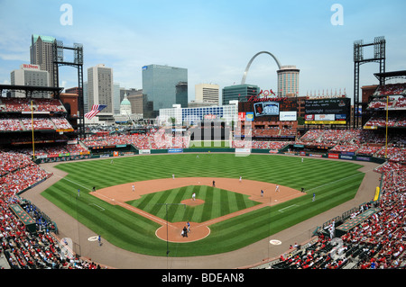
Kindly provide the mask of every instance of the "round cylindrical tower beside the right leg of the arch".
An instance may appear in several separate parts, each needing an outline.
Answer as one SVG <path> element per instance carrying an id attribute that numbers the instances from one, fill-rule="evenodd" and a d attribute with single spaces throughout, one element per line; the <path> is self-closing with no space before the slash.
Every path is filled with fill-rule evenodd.
<path id="1" fill-rule="evenodd" d="M 278 96 L 299 95 L 299 72 L 296 66 L 281 66 L 278 75 Z"/>

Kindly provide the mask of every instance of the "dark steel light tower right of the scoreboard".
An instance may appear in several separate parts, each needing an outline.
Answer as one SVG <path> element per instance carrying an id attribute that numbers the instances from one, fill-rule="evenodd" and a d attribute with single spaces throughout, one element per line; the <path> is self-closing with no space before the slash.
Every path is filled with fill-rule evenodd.
<path id="1" fill-rule="evenodd" d="M 362 103 L 359 101 L 359 67 L 365 63 L 379 63 L 379 73 L 385 72 L 385 45 L 386 40 L 383 36 L 375 37 L 374 42 L 364 44 L 364 40 L 355 40 L 354 42 L 354 116 L 353 127 L 358 128 L 359 108 Z M 374 46 L 374 56 L 364 58 L 364 47 Z M 379 83 L 383 85 L 383 83 Z"/>

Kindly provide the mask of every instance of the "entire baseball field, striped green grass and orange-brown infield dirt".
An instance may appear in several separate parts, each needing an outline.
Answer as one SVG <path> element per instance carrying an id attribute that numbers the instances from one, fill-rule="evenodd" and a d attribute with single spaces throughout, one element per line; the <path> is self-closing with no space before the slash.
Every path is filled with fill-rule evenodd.
<path id="1" fill-rule="evenodd" d="M 111 244 L 150 256 L 248 246 L 353 199 L 364 178 L 355 163 L 254 154 L 110 157 L 56 167 L 68 175 L 42 192 L 46 199 Z M 187 221 L 188 239 L 179 232 Z"/>

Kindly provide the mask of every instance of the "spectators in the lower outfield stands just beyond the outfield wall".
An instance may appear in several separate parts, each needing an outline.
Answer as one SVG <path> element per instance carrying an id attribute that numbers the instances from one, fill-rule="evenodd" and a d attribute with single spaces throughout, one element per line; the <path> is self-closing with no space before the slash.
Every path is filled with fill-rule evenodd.
<path id="1" fill-rule="evenodd" d="M 257 129 L 258 130 L 258 129 Z M 276 129 L 275 129 L 276 130 Z M 280 132 L 279 130 L 278 132 Z M 256 133 L 258 134 L 258 133 Z M 404 140 L 401 137 L 401 140 Z M 392 139 L 389 139 L 392 140 Z M 109 134 L 109 135 L 91 135 L 85 139 L 84 144 L 88 148 L 101 146 L 115 146 L 132 144 L 138 149 L 167 149 L 167 148 L 189 148 L 189 136 L 166 133 L 163 130 L 155 130 L 144 134 Z M 355 155 L 366 155 L 374 157 L 385 157 L 383 149 L 385 146 L 385 137 L 383 134 L 374 132 L 374 130 L 308 130 L 300 139 L 291 141 L 278 140 L 257 140 L 250 139 L 247 144 L 245 139 L 232 140 L 231 148 L 261 148 L 281 150 L 288 144 L 302 144 L 307 146 L 328 147 L 332 152 L 351 152 Z M 389 148 L 386 153 L 388 158 L 403 158 L 405 142 L 396 148 Z"/>

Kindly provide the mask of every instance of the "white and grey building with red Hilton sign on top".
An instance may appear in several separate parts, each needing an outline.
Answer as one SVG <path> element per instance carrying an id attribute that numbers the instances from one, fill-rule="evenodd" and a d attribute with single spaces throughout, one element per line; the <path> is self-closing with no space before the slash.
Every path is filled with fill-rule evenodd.
<path id="1" fill-rule="evenodd" d="M 43 71 L 39 65 L 23 64 L 20 69 L 15 69 L 10 74 L 11 85 L 36 85 L 50 86 L 50 76 L 48 71 Z M 23 92 L 12 91 L 13 97 L 25 97 Z M 49 98 L 51 94 L 47 92 L 34 92 L 32 97 Z"/>

